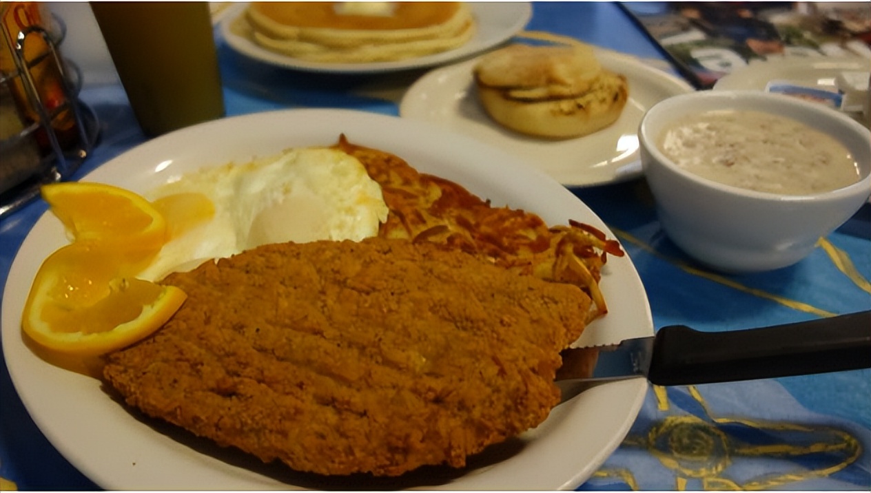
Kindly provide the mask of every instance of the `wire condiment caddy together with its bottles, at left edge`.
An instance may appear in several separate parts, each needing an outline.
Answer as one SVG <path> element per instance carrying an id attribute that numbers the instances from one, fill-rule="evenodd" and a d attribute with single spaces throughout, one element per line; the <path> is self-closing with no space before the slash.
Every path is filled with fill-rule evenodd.
<path id="1" fill-rule="evenodd" d="M 42 3 L 0 5 L 0 218 L 69 179 L 97 139 L 78 69 L 59 50 L 64 32 Z"/>

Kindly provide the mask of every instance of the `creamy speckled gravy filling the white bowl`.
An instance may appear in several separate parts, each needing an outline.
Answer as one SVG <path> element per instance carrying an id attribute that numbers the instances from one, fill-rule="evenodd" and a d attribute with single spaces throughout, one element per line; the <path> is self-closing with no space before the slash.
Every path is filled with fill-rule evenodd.
<path id="1" fill-rule="evenodd" d="M 757 192 L 807 195 L 861 176 L 837 139 L 791 118 L 761 111 L 706 111 L 665 128 L 659 149 L 702 178 Z"/>

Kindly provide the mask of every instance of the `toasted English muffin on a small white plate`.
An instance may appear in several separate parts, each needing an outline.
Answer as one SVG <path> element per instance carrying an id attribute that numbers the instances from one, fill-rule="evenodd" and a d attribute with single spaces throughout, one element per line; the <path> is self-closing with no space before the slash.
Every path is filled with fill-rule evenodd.
<path id="1" fill-rule="evenodd" d="M 629 98 L 626 78 L 604 70 L 586 45 L 512 44 L 484 56 L 474 77 L 490 118 L 544 138 L 597 132 L 617 121 Z"/>

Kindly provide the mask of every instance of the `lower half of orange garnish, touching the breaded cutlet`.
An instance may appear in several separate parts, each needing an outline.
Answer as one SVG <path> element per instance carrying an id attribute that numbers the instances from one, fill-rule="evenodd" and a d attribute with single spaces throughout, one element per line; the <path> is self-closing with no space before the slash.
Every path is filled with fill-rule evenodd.
<path id="1" fill-rule="evenodd" d="M 108 250 L 83 241 L 52 253 L 24 305 L 24 333 L 60 353 L 100 355 L 129 346 L 168 321 L 186 294 L 118 276 L 124 267 L 111 261 Z"/>

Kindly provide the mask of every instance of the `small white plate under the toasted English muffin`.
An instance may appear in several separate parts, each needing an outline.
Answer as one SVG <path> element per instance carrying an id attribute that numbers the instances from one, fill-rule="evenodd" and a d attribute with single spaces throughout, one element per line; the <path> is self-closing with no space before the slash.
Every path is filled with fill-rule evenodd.
<path id="1" fill-rule="evenodd" d="M 636 178 L 638 125 L 645 111 L 690 84 L 634 57 L 596 51 L 601 64 L 629 81 L 629 101 L 613 125 L 584 137 L 547 140 L 496 124 L 476 97 L 472 67 L 477 60 L 430 71 L 412 84 L 400 105 L 402 117 L 433 122 L 526 159 L 565 186 L 593 186 Z"/>

